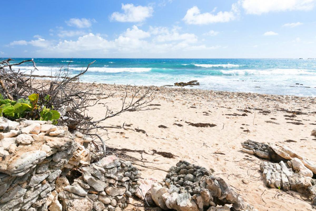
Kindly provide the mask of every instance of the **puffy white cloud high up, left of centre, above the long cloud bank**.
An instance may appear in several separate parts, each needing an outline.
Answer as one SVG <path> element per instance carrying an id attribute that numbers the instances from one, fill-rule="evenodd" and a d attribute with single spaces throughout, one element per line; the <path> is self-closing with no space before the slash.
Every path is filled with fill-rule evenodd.
<path id="1" fill-rule="evenodd" d="M 123 13 L 114 12 L 111 20 L 118 22 L 143 22 L 152 16 L 154 9 L 151 6 L 134 6 L 134 4 L 122 4 Z"/>

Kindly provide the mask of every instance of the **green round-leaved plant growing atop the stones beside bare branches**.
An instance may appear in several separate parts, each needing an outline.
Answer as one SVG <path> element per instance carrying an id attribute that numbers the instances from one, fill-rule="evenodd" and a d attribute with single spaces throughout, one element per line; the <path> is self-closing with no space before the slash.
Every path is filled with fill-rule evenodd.
<path id="1" fill-rule="evenodd" d="M 28 99 L 20 98 L 18 100 L 4 99 L 0 94 L 0 117 L 9 119 L 26 118 L 32 120 L 52 121 L 58 123 L 60 114 L 53 108 L 46 108 L 45 105 L 50 101 L 50 96 L 46 95 L 43 102 L 39 103 L 39 94 L 31 94 Z M 44 105 L 39 106 L 38 104 Z"/>

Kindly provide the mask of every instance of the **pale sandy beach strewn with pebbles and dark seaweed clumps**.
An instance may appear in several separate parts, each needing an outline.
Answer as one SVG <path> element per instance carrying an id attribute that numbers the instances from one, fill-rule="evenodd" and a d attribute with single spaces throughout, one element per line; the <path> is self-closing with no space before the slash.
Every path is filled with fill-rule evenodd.
<path id="1" fill-rule="evenodd" d="M 105 106 L 110 109 L 122 106 L 124 85 L 83 85 L 115 93 L 89 109 L 88 114 L 94 118 L 102 117 Z M 135 161 L 143 178 L 161 181 L 172 165 L 186 160 L 213 169 L 214 174 L 226 180 L 258 210 L 313 209 L 297 192 L 266 187 L 259 168 L 263 159 L 242 152 L 240 143 L 280 142 L 316 162 L 316 137 L 311 136 L 316 127 L 315 98 L 156 86 L 129 86 L 127 90 L 132 94 L 135 89 L 152 92 L 153 101 L 143 111 L 124 112 L 106 120 L 104 126 L 124 124 L 128 129 L 107 128 L 109 139 L 104 138 L 108 147 L 144 150 L 144 153 L 126 152 L 143 161 Z M 284 116 L 294 113 L 295 117 Z M 209 123 L 212 127 L 195 127 L 195 123 Z M 154 150 L 170 152 L 175 158 L 165 158 Z"/>

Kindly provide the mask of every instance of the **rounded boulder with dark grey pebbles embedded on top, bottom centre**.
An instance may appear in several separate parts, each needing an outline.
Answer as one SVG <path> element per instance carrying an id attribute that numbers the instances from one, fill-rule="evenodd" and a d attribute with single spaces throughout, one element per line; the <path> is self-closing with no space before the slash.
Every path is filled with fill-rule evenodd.
<path id="1" fill-rule="evenodd" d="M 225 204 L 232 204 L 235 210 L 255 210 L 222 178 L 216 177 L 204 167 L 186 161 L 172 166 L 164 182 L 154 183 L 151 196 L 153 201 L 165 210 L 230 210 Z"/>

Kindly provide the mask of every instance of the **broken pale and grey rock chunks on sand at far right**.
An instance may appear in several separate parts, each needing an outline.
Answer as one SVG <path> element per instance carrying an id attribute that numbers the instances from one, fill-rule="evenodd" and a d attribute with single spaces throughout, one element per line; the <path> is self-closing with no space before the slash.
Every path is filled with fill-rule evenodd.
<path id="1" fill-rule="evenodd" d="M 242 151 L 274 162 L 260 164 L 265 183 L 270 188 L 297 191 L 307 195 L 316 205 L 316 165 L 280 143 L 269 145 L 247 140 Z"/>

